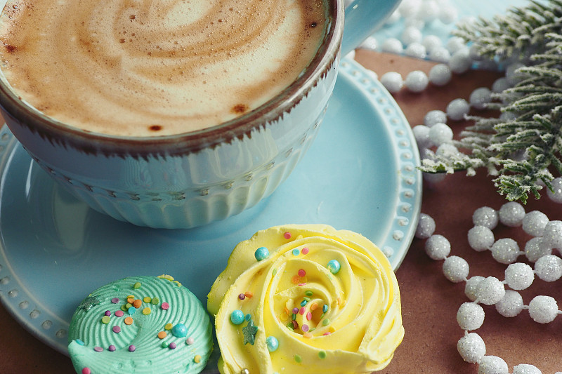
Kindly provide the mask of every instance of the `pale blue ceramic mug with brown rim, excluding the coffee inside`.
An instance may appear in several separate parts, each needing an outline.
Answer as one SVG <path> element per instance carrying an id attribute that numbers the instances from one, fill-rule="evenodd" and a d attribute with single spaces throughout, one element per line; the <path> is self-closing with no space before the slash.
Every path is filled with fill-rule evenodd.
<path id="1" fill-rule="evenodd" d="M 320 127 L 340 55 L 370 36 L 398 2 L 355 0 L 345 8 L 343 0 L 325 0 L 322 43 L 299 77 L 251 112 L 200 131 L 148 138 L 84 131 L 26 105 L 4 74 L 1 115 L 32 159 L 96 211 L 155 228 L 223 220 L 287 178 Z"/>

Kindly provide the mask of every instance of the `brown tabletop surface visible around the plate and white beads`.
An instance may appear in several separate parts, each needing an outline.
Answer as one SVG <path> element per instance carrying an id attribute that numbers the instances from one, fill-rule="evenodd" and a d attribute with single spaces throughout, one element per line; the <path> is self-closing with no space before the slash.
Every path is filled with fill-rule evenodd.
<path id="1" fill-rule="evenodd" d="M 358 51 L 356 60 L 379 76 L 396 71 L 406 76 L 412 70 L 429 72 L 432 62 L 414 60 L 370 51 Z M 492 86 L 500 74 L 497 72 L 470 71 L 455 75 L 445 87 L 429 86 L 422 93 L 407 90 L 395 95 L 411 126 L 423 123 L 431 109 L 445 110 L 455 98 L 468 100 L 474 88 Z M 456 134 L 466 122 L 450 122 Z M 320 130 L 321 131 L 321 130 Z M 424 187 L 421 211 L 436 221 L 436 234 L 442 234 L 452 245 L 451 255 L 459 255 L 469 262 L 469 276 L 496 276 L 504 279 L 506 265 L 493 260 L 489 251 L 476 253 L 466 239 L 472 225 L 472 213 L 481 206 L 499 209 L 506 202 L 497 194 L 491 178 L 484 170 L 475 177 L 464 173 L 448 175 L 443 182 Z M 540 210 L 551 220 L 562 220 L 562 206 L 552 203 L 547 196 L 535 201 L 530 198 L 526 211 Z M 344 229 L 345 227 L 339 227 Z M 495 238 L 511 237 L 523 248 L 530 237 L 521 228 L 499 225 Z M 523 260 L 523 258 L 520 258 Z M 397 272 L 403 306 L 405 338 L 398 347 L 393 361 L 379 373 L 385 374 L 476 374 L 477 367 L 464 362 L 457 353 L 457 340 L 462 330 L 457 325 L 457 309 L 468 301 L 464 296 L 464 283 L 450 283 L 441 272 L 442 261 L 430 260 L 424 253 L 424 241 L 414 239 L 410 251 Z M 546 283 L 535 279 L 523 294 L 525 305 L 535 295 L 549 295 L 562 307 L 560 281 Z M 553 374 L 562 370 L 562 316 L 552 323 L 542 325 L 530 319 L 527 311 L 513 319 L 500 316 L 495 307 L 484 306 L 486 316 L 483 326 L 476 332 L 486 343 L 487 354 L 500 356 L 507 361 L 510 372 L 519 363 L 530 363 Z M 0 373 L 74 373 L 70 359 L 34 338 L 22 328 L 0 305 Z"/>

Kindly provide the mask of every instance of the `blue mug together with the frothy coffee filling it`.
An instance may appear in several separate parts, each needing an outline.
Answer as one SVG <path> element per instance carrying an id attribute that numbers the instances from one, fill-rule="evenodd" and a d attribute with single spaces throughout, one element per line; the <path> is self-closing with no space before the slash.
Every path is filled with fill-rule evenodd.
<path id="1" fill-rule="evenodd" d="M 0 114 L 32 159 L 96 211 L 190 228 L 287 178 L 341 53 L 398 1 L 355 0 L 345 15 L 342 0 L 0 5 Z"/>

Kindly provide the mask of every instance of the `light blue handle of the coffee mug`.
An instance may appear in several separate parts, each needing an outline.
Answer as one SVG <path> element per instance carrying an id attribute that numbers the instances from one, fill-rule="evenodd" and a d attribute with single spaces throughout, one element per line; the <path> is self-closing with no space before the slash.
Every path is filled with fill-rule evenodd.
<path id="1" fill-rule="evenodd" d="M 341 55 L 347 55 L 378 29 L 400 0 L 355 0 L 346 6 Z"/>

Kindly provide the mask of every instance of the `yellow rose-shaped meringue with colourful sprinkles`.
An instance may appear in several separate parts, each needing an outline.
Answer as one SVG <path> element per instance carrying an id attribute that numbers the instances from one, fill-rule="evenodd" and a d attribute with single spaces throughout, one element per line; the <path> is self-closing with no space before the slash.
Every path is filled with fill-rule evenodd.
<path id="1" fill-rule="evenodd" d="M 207 307 L 223 374 L 371 373 L 404 335 L 386 256 L 327 225 L 272 227 L 242 241 Z"/>

